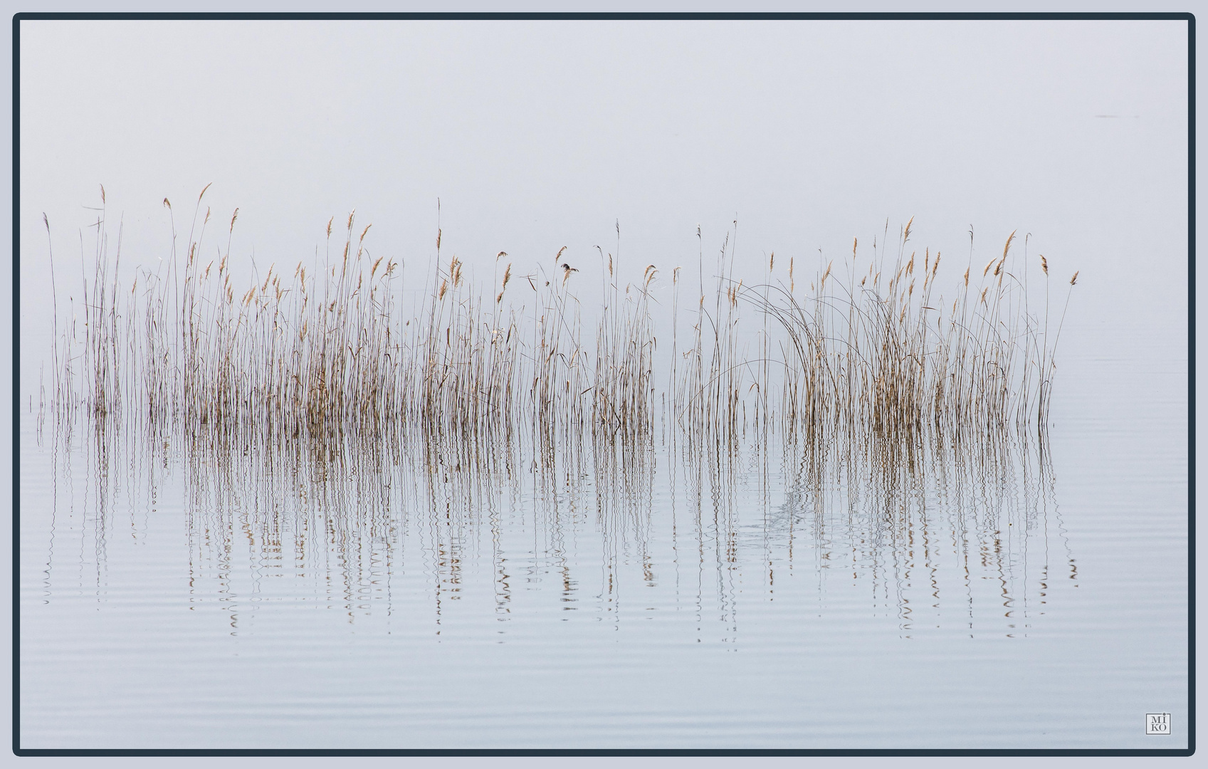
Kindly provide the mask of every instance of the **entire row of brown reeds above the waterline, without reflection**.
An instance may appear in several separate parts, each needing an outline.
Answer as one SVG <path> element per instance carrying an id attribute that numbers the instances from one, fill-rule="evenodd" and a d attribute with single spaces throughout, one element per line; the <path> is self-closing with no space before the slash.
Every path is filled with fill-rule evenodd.
<path id="1" fill-rule="evenodd" d="M 238 209 L 225 248 L 203 259 L 211 218 L 207 209 L 196 227 L 203 196 L 187 251 L 174 249 L 128 287 L 121 232 L 111 249 L 104 214 L 93 225 L 91 276 L 81 255 L 82 301 L 70 302 L 66 318 L 56 305 L 58 422 L 120 416 L 228 449 L 419 438 L 430 467 L 445 468 L 511 463 L 511 451 L 492 447 L 521 440 L 532 441 L 534 466 L 550 468 L 585 441 L 594 450 L 647 445 L 656 426 L 689 452 L 718 456 L 743 440 L 766 446 L 772 435 L 819 450 L 877 444 L 881 453 L 924 439 L 988 445 L 1045 432 L 1061 323 L 1050 333 L 1044 256 L 1045 301 L 1032 311 L 1017 277 L 1027 254 L 1012 250 L 1014 233 L 980 274 L 970 242 L 963 277 L 941 293 L 941 254 L 907 250 L 913 220 L 890 249 L 882 239 L 861 261 L 853 242 L 850 255 L 819 264 L 813 276 L 802 274 L 800 258 L 773 255 L 755 284 L 734 276 L 736 225 L 716 255 L 712 295 L 702 248 L 699 296 L 681 301 L 680 267 L 651 264 L 640 281 L 620 278 L 617 227 L 614 251 L 597 247 L 597 313 L 577 299 L 583 277 L 563 261 L 565 249 L 523 276 L 500 251 L 501 282 L 480 291 L 465 265 L 442 254 L 437 232 L 435 270 L 408 308 L 402 261 L 372 258 L 370 227 L 358 230 L 354 214 L 336 225 L 344 232 L 335 243 L 329 221 L 323 265 L 272 265 L 236 287 Z M 656 375 L 662 308 L 652 291 L 663 274 L 672 352 Z M 744 307 L 754 320 L 744 323 Z M 691 324 L 683 337 L 681 312 Z M 585 314 L 596 322 L 594 343 Z"/>

